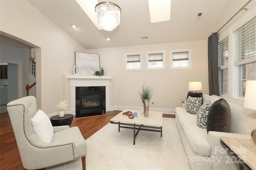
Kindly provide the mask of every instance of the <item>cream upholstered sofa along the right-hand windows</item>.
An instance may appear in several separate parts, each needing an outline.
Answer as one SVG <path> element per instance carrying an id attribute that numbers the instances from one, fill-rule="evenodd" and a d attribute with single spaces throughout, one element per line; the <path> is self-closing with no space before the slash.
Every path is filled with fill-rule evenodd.
<path id="1" fill-rule="evenodd" d="M 203 95 L 203 103 L 210 101 L 212 104 L 220 96 Z M 209 131 L 197 125 L 197 115 L 186 111 L 186 104 L 176 107 L 176 124 L 182 139 L 184 149 L 192 170 L 234 170 L 238 169 L 232 155 L 224 150 L 220 144 L 220 137 L 238 137 L 250 139 L 250 133 L 256 129 L 255 110 L 243 107 L 242 102 L 224 98 L 231 109 L 231 123 L 229 132 Z"/>

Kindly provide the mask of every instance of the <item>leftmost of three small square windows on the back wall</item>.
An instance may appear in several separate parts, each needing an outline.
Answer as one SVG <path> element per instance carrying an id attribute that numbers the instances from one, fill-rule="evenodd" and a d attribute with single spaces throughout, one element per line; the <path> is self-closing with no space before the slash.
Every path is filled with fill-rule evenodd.
<path id="1" fill-rule="evenodd" d="M 126 53 L 125 70 L 142 70 L 142 53 Z"/>

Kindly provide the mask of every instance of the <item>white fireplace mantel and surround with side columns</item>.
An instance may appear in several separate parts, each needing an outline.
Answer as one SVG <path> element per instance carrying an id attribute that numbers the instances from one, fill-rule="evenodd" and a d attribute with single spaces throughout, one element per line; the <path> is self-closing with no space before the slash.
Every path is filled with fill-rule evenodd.
<path id="1" fill-rule="evenodd" d="M 70 79 L 71 100 L 70 114 L 76 115 L 76 87 L 106 87 L 106 111 L 110 111 L 110 81 L 113 76 L 84 76 L 84 75 L 68 75 Z"/>

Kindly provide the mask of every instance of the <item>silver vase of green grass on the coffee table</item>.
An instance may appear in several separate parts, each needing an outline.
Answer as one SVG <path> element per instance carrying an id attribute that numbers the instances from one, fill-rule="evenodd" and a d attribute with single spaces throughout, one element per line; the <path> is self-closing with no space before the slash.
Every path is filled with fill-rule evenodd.
<path id="1" fill-rule="evenodd" d="M 148 111 L 149 111 L 148 102 L 154 94 L 154 88 L 151 86 L 147 86 L 144 83 L 143 86 L 141 86 L 141 91 L 138 91 L 138 93 L 144 104 L 143 105 L 144 116 L 148 117 Z"/>

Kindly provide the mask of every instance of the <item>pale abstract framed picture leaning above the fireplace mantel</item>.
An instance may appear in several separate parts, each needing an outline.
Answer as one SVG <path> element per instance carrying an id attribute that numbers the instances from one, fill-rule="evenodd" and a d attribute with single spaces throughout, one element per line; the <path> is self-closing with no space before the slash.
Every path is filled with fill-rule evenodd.
<path id="1" fill-rule="evenodd" d="M 92 76 L 95 71 L 100 71 L 100 55 L 76 51 L 76 66 L 80 67 L 80 75 Z"/>

